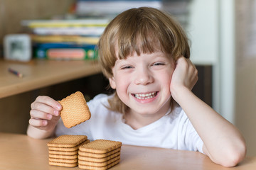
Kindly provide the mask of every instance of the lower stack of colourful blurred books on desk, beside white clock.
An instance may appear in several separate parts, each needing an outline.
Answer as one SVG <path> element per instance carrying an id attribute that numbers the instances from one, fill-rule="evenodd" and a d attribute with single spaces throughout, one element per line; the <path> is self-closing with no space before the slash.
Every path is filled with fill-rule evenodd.
<path id="1" fill-rule="evenodd" d="M 33 55 L 54 60 L 95 60 L 95 46 L 108 19 L 31 20 L 22 25 L 31 31 Z"/>

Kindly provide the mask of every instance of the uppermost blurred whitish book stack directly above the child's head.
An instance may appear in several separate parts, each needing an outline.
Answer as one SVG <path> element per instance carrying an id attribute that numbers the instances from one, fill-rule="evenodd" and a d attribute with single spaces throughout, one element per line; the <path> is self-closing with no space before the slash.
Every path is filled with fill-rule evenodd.
<path id="1" fill-rule="evenodd" d="M 191 0 L 76 0 L 75 6 L 75 15 L 78 17 L 107 16 L 108 18 L 114 18 L 129 8 L 148 6 L 166 11 L 186 27 Z"/>

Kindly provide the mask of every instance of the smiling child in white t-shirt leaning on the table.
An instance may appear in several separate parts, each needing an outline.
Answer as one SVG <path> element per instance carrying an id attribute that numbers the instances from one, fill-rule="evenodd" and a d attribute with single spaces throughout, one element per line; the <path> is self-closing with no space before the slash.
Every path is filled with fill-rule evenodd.
<path id="1" fill-rule="evenodd" d="M 98 50 L 114 94 L 89 101 L 90 120 L 70 129 L 60 119 L 60 104 L 38 96 L 31 104 L 29 136 L 87 135 L 124 145 L 193 150 L 223 166 L 245 157 L 240 132 L 191 92 L 198 77 L 188 59 L 188 40 L 166 13 L 146 7 L 124 11 L 107 26 Z"/>

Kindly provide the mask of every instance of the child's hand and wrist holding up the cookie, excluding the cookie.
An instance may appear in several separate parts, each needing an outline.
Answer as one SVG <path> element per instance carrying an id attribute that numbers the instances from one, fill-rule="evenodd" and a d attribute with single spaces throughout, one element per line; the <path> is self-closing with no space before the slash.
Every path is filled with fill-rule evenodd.
<path id="1" fill-rule="evenodd" d="M 58 101 L 48 96 L 38 96 L 31 103 L 31 119 L 29 120 L 27 135 L 43 139 L 54 134 L 55 126 L 60 119 L 62 106 Z"/>

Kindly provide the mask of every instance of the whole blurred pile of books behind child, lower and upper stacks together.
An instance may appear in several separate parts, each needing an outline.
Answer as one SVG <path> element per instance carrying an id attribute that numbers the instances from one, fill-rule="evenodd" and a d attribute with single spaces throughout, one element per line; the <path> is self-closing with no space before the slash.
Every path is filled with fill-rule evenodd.
<path id="1" fill-rule="evenodd" d="M 74 19 L 31 20 L 21 24 L 31 31 L 33 56 L 54 60 L 95 60 L 96 44 L 107 24 L 129 8 L 150 6 L 174 14 L 187 23 L 191 0 L 76 0 Z"/>

